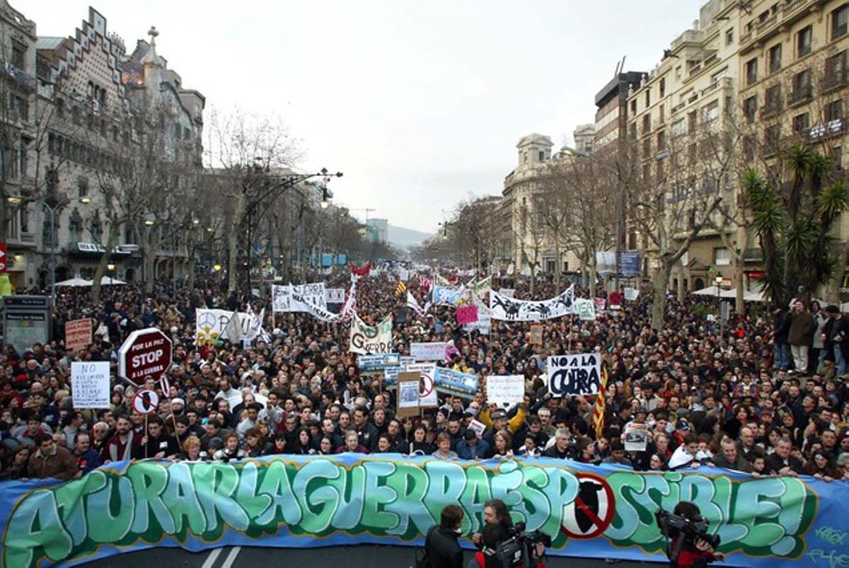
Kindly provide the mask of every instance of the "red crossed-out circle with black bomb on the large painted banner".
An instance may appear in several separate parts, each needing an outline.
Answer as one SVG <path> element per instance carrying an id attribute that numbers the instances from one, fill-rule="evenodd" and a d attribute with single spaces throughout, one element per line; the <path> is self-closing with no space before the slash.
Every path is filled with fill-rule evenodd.
<path id="1" fill-rule="evenodd" d="M 599 537 L 613 520 L 616 501 L 604 478 L 591 473 L 578 473 L 578 494 L 563 506 L 560 530 L 571 538 Z"/>

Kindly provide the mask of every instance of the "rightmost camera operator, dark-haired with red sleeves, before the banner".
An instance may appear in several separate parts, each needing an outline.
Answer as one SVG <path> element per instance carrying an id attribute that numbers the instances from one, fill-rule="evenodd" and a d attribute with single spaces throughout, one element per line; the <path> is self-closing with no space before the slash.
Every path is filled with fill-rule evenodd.
<path id="1" fill-rule="evenodd" d="M 672 513 L 658 509 L 655 518 L 661 533 L 672 539 L 666 548 L 672 568 L 701 568 L 714 560 L 725 560 L 725 554 L 714 552 L 719 546 L 719 537 L 707 532 L 707 520 L 694 503 L 682 501 L 675 505 Z"/>

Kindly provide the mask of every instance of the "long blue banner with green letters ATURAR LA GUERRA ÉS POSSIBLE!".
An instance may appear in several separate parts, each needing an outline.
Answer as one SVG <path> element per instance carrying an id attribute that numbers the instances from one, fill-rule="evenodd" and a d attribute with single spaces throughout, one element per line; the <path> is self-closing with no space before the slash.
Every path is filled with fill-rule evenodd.
<path id="1" fill-rule="evenodd" d="M 444 505 L 466 536 L 489 498 L 548 554 L 664 560 L 659 507 L 697 503 L 734 565 L 849 566 L 849 483 L 727 470 L 647 473 L 548 458 L 283 456 L 110 464 L 67 483 L 0 484 L 3 566 L 75 565 L 156 547 L 421 546 Z M 468 544 L 468 542 L 466 542 Z"/>

